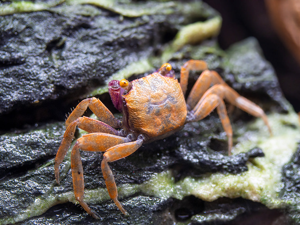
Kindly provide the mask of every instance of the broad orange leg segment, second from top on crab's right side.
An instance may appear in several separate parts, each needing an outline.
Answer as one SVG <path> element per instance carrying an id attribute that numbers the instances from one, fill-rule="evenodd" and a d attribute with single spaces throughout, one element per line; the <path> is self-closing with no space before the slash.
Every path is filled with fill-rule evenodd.
<path id="1" fill-rule="evenodd" d="M 201 97 L 212 85 L 225 83 L 220 75 L 215 71 L 204 70 L 193 85 L 187 97 L 187 105 L 193 109 Z"/>

